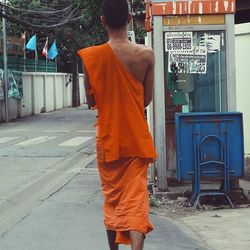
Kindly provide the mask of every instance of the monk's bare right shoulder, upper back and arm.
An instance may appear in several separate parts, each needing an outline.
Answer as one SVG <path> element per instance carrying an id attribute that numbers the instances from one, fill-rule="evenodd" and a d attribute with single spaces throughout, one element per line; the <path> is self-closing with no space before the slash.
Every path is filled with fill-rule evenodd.
<path id="1" fill-rule="evenodd" d="M 121 64 L 144 86 L 145 107 L 152 100 L 154 82 L 154 53 L 147 46 L 130 41 L 110 42 Z"/>

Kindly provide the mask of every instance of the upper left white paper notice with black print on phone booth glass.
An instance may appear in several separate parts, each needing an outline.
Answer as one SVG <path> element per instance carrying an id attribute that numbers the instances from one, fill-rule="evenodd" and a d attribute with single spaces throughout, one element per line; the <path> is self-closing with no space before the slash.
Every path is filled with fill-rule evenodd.
<path id="1" fill-rule="evenodd" d="M 166 51 L 192 51 L 193 33 L 192 32 L 166 32 L 165 33 Z"/>

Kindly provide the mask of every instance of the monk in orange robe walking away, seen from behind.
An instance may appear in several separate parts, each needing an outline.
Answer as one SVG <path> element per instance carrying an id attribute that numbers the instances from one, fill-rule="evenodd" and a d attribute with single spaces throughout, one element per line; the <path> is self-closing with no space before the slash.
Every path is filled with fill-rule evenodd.
<path id="1" fill-rule="evenodd" d="M 98 110 L 97 164 L 109 246 L 143 249 L 149 220 L 147 171 L 157 155 L 144 108 L 152 100 L 152 49 L 128 40 L 127 0 L 104 0 L 101 21 L 109 42 L 78 51 L 88 104 Z"/>

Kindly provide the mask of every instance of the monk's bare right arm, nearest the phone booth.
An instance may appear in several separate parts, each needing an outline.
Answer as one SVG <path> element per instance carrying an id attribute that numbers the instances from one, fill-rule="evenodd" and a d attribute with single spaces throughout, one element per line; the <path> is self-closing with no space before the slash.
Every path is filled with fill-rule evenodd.
<path id="1" fill-rule="evenodd" d="M 151 103 L 153 98 L 154 87 L 154 68 L 155 57 L 152 50 L 147 51 L 148 68 L 144 79 L 144 106 L 145 108 Z"/>

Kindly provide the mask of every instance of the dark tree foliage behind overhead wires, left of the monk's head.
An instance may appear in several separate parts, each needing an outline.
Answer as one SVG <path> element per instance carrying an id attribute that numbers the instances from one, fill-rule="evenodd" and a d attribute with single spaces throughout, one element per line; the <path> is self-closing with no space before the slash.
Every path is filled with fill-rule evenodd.
<path id="1" fill-rule="evenodd" d="M 20 36 L 24 30 L 27 30 L 28 38 L 33 34 L 37 34 L 38 53 L 43 49 L 47 36 L 50 44 L 56 39 L 60 50 L 58 63 L 61 71 L 72 71 L 73 57 L 75 57 L 78 49 L 101 44 L 107 39 L 106 32 L 100 23 L 101 0 L 10 0 L 9 4 L 15 8 L 36 11 L 60 10 L 69 5 L 73 5 L 78 9 L 79 15 L 81 15 L 78 21 L 55 29 L 35 29 L 8 23 L 9 35 Z M 25 13 L 19 18 L 25 19 Z M 39 22 L 42 25 L 46 23 L 46 20 L 39 20 Z"/>

